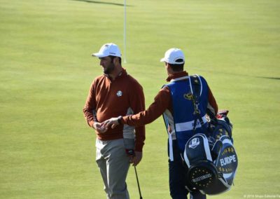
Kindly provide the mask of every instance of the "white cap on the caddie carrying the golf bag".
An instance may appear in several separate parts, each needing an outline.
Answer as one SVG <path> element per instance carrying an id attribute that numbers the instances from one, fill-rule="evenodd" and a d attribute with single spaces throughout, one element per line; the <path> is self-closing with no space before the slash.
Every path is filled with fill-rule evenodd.
<path id="1" fill-rule="evenodd" d="M 167 62 L 169 64 L 183 64 L 185 62 L 185 56 L 183 51 L 179 48 L 170 48 L 165 52 L 165 57 L 163 57 L 160 62 Z"/>

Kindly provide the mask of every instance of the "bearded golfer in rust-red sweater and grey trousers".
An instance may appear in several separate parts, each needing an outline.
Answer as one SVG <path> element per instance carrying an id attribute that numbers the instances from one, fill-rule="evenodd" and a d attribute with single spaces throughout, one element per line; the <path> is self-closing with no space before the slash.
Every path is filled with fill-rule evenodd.
<path id="1" fill-rule="evenodd" d="M 145 127 L 119 125 L 107 130 L 100 123 L 116 116 L 138 113 L 145 109 L 141 85 L 127 74 L 121 65 L 120 49 L 114 43 L 106 43 L 98 53 L 104 74 L 97 76 L 90 86 L 83 113 L 87 124 L 94 128 L 96 161 L 109 199 L 130 198 L 125 182 L 130 163 L 137 165 L 142 158 Z M 126 151 L 135 151 L 128 156 Z"/>

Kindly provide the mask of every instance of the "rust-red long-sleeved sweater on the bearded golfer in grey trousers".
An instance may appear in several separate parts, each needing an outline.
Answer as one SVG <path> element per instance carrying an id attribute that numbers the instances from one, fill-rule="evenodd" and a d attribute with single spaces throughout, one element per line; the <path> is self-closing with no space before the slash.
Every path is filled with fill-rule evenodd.
<path id="1" fill-rule="evenodd" d="M 90 92 L 85 102 L 83 113 L 85 119 L 92 127 L 94 121 L 102 123 L 109 118 L 139 113 L 145 110 L 144 92 L 141 85 L 132 76 L 123 72 L 111 81 L 109 76 L 98 76 L 90 86 Z M 106 132 L 97 133 L 101 140 L 123 138 L 123 125 L 109 128 Z M 135 150 L 142 151 L 145 140 L 145 127 L 135 128 Z"/>

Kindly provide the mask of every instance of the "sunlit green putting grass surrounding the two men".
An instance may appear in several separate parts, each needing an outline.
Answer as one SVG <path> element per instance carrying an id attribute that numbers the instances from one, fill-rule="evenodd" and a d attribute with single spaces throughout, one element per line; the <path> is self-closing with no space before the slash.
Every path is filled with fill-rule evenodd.
<path id="1" fill-rule="evenodd" d="M 91 57 L 123 45 L 123 1 L 0 0 L 0 198 L 106 198 L 95 134 L 83 118 Z M 229 109 L 239 167 L 209 198 L 280 198 L 280 1 L 127 1 L 127 63 L 146 107 L 165 84 L 165 51 L 181 48 L 220 109 Z M 137 172 L 145 199 L 169 197 L 167 133 L 146 125 Z M 127 177 L 139 198 L 133 168 Z"/>

